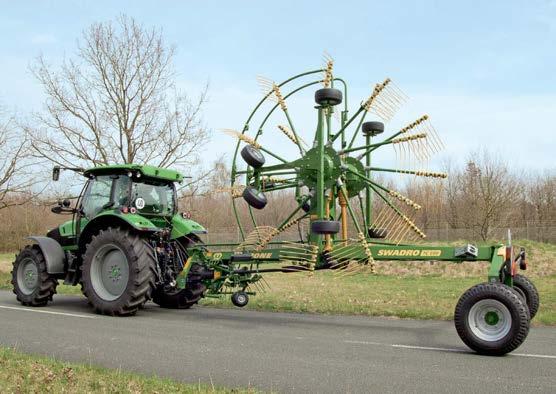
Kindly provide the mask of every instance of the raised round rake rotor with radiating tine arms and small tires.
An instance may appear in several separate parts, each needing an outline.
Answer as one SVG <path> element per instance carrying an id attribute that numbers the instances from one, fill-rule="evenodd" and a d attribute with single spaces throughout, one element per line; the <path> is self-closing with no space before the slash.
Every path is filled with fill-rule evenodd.
<path id="1" fill-rule="evenodd" d="M 329 54 L 324 54 L 323 61 L 321 69 L 281 83 L 258 77 L 263 98 L 249 116 L 243 131 L 225 130 L 237 140 L 231 190 L 233 209 L 244 240 L 236 250 L 265 250 L 271 243 L 276 243 L 274 240 L 279 234 L 308 219 L 311 230 L 307 234 L 307 243 L 303 243 L 303 238 L 301 242 L 278 242 L 281 243 L 280 261 L 309 270 L 326 266 L 337 269 L 339 275 L 359 269 L 374 272 L 369 245 L 377 239 L 398 245 L 426 237 L 414 222 L 421 205 L 379 183 L 376 174 L 386 172 L 443 179 L 446 174 L 426 168 L 444 145 L 428 115 L 382 138 L 385 129 L 382 122 L 390 121 L 408 100 L 390 78 L 375 84 L 370 96 L 349 117 L 346 83 L 335 77 L 334 60 Z M 292 87 L 312 75 L 317 79 Z M 315 92 L 317 130 L 314 135 L 299 133 L 290 116 L 288 100 L 306 89 L 315 90 L 318 85 L 322 88 Z M 337 87 L 343 87 L 343 92 Z M 257 117 L 265 101 L 274 105 L 266 116 L 260 114 Z M 340 106 L 342 102 L 343 108 Z M 334 130 L 335 126 L 330 122 L 333 115 L 338 115 L 338 130 Z M 282 116 L 282 120 L 274 124 L 273 116 Z M 365 122 L 367 116 L 377 120 Z M 258 118 L 262 119 L 260 124 L 256 123 Z M 273 147 L 279 143 L 268 139 L 266 135 L 269 133 L 263 133 L 265 129 L 274 132 L 277 129 L 287 137 L 297 148 L 288 149 L 289 156 L 295 156 L 284 158 L 275 153 Z M 255 132 L 250 133 L 250 130 Z M 394 151 L 397 168 L 379 167 L 374 162 L 371 165 L 373 153 L 387 146 Z M 238 154 L 240 149 L 241 155 Z M 257 159 L 259 154 L 270 156 L 270 160 Z M 240 156 L 247 166 L 242 164 Z M 264 208 L 267 204 L 265 194 L 277 190 L 290 190 L 286 196 L 295 199 L 297 206 L 293 212 L 284 215 L 285 219 L 276 227 L 259 226 L 255 209 Z M 240 194 L 247 202 L 250 224 L 241 220 L 241 203 L 237 198 Z M 245 227 L 251 227 L 251 231 L 246 233 Z"/>

